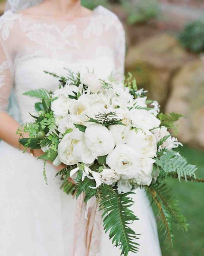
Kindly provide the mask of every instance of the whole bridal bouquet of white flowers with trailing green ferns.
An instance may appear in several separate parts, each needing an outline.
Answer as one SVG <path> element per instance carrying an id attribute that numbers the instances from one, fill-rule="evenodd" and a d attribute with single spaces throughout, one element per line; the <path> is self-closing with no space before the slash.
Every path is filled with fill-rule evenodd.
<path id="1" fill-rule="evenodd" d="M 130 209 L 134 189 L 144 187 L 158 208 L 158 218 L 173 243 L 173 223 L 183 230 L 188 224 L 177 208 L 177 201 L 166 187 L 167 177 L 200 181 L 196 166 L 186 162 L 177 150 L 181 143 L 169 133 L 182 117 L 162 114 L 158 102 L 138 90 L 131 74 L 123 83 L 100 80 L 93 73 L 67 77 L 55 73 L 56 90 L 30 90 L 24 95 L 39 98 L 33 122 L 23 126 L 30 138 L 19 142 L 31 149 L 42 149 L 40 159 L 67 167 L 61 176 L 63 190 L 84 193 L 84 202 L 97 198 L 103 213 L 104 230 L 121 249 L 121 255 L 138 252 L 138 235 L 131 223 L 138 218 Z M 21 133 L 19 131 L 19 133 Z M 68 178 L 75 181 L 75 185 Z M 44 179 L 47 182 L 44 169 Z"/>

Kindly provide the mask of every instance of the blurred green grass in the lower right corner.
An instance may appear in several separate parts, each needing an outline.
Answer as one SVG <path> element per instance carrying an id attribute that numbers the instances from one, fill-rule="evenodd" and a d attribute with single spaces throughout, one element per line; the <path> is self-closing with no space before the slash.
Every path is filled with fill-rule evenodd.
<path id="1" fill-rule="evenodd" d="M 204 151 L 182 147 L 179 152 L 188 163 L 198 166 L 197 176 L 204 178 Z M 188 232 L 176 230 L 175 243 L 172 250 L 167 251 L 160 236 L 163 256 L 204 256 L 204 183 L 191 183 L 169 179 L 169 187 L 179 200 L 182 213 L 190 224 Z"/>

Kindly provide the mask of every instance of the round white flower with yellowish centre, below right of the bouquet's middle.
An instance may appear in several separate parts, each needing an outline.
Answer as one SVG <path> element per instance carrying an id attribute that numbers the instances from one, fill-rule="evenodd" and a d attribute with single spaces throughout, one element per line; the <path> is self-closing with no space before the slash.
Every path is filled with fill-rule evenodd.
<path id="1" fill-rule="evenodd" d="M 123 176 L 128 176 L 138 170 L 138 155 L 131 147 L 120 144 L 108 154 L 107 165 Z"/>

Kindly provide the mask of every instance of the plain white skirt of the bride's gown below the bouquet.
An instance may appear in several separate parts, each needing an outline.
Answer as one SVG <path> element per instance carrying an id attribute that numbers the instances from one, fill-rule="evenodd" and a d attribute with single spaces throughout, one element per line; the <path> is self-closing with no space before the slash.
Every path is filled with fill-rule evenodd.
<path id="1" fill-rule="evenodd" d="M 97 232 L 87 231 L 87 220 L 80 226 L 76 220 L 80 211 L 85 219 L 80 202 L 60 190 L 53 166 L 47 164 L 46 169 L 48 185 L 41 160 L 0 142 L 0 256 L 119 256 L 119 248 L 94 219 L 90 220 Z M 133 199 L 139 220 L 132 229 L 141 234 L 136 255 L 161 256 L 150 202 L 140 189 Z"/>

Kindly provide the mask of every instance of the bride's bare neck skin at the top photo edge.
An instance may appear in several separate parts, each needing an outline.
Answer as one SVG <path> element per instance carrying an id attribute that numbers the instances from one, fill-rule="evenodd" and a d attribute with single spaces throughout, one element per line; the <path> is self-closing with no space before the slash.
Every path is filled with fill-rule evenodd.
<path id="1" fill-rule="evenodd" d="M 80 0 L 45 0 L 47 12 L 52 12 L 56 16 L 69 15 L 77 16 L 80 15 L 82 6 Z"/>

